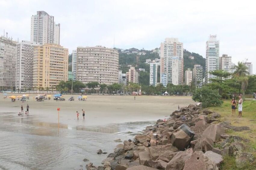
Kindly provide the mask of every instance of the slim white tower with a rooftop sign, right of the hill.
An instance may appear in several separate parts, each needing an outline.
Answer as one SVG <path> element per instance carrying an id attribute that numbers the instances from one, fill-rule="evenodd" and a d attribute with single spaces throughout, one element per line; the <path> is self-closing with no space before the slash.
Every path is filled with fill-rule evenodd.
<path id="1" fill-rule="evenodd" d="M 210 79 L 216 76 L 209 72 L 219 70 L 220 57 L 220 42 L 217 40 L 217 35 L 210 35 L 209 40 L 206 41 L 206 60 L 205 60 L 205 82 L 209 83 Z"/>

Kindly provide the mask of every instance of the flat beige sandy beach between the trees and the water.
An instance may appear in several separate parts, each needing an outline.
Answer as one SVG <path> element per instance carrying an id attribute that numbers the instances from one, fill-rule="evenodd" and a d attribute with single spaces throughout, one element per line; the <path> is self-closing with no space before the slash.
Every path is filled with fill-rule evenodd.
<path id="1" fill-rule="evenodd" d="M 18 94 L 8 94 L 18 95 Z M 0 94 L 0 96 L 3 96 Z M 136 121 L 155 121 L 158 118 L 169 116 L 171 112 L 180 107 L 195 103 L 191 97 L 173 96 L 99 96 L 88 95 L 87 101 L 78 101 L 78 95 L 73 95 L 75 101 L 68 101 L 71 95 L 64 95 L 66 101 L 51 100 L 43 102 L 34 101 L 35 94 L 30 94 L 30 100 L 11 102 L 11 99 L 0 101 L 1 112 L 20 112 L 23 105 L 24 111 L 27 104 L 30 106 L 30 120 L 33 124 L 42 126 L 56 126 L 58 123 L 58 111 L 60 108 L 60 123 L 63 127 L 79 126 L 105 126 L 108 124 L 120 124 Z M 85 121 L 83 111 L 86 111 Z M 79 120 L 76 111 L 80 112 Z M 16 115 L 17 115 L 16 114 Z M 18 116 L 17 116 L 18 117 Z M 9 120 L 11 121 L 11 120 Z"/>

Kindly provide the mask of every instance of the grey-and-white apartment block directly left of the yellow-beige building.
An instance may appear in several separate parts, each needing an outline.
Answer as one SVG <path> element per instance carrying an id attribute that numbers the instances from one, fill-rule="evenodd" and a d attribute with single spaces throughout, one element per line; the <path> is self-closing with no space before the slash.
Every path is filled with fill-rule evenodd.
<path id="1" fill-rule="evenodd" d="M 39 45 L 32 41 L 21 41 L 17 44 L 16 91 L 25 91 L 33 87 L 34 47 Z"/>

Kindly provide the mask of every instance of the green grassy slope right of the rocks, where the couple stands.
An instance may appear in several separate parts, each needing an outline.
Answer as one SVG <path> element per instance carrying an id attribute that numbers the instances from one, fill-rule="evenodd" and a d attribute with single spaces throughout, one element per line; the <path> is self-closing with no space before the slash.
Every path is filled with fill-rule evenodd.
<path id="1" fill-rule="evenodd" d="M 227 133 L 249 139 L 250 142 L 245 144 L 246 151 L 251 152 L 254 155 L 254 159 L 256 159 L 256 101 L 250 100 L 243 103 L 242 118 L 237 118 L 238 109 L 236 109 L 236 115 L 232 116 L 230 101 L 224 101 L 223 106 L 210 107 L 209 110 L 220 113 L 221 121 L 230 121 L 231 125 L 233 126 L 248 126 L 251 128 L 251 130 L 242 132 L 234 132 L 229 130 Z M 239 168 L 237 168 L 235 165 L 234 157 L 224 157 L 224 163 L 221 166 L 221 169 L 238 170 Z M 248 164 L 248 166 L 244 167 L 243 170 L 244 169 L 256 169 L 255 161 L 251 165 Z"/>

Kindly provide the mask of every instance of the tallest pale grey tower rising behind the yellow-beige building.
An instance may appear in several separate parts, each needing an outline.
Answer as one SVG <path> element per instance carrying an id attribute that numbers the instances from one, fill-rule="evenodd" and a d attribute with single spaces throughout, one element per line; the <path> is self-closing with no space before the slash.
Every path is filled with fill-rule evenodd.
<path id="1" fill-rule="evenodd" d="M 60 43 L 60 24 L 55 24 L 54 16 L 45 11 L 37 11 L 36 15 L 31 16 L 30 30 L 30 41 L 39 44 Z"/>

